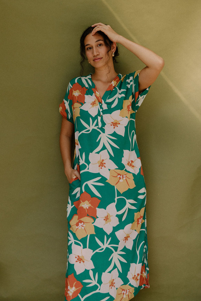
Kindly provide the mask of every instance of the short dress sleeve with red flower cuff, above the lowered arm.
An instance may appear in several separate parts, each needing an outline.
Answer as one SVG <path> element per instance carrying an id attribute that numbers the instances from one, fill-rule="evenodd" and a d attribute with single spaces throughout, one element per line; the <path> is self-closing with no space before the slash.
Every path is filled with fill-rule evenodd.
<path id="1" fill-rule="evenodd" d="M 70 93 L 69 93 L 70 87 L 71 87 L 71 83 L 69 83 L 64 100 L 62 101 L 62 103 L 59 106 L 59 112 L 65 119 L 67 119 L 68 121 L 70 121 L 71 123 L 74 124 L 73 101 L 72 101 L 72 98 L 70 97 Z"/>

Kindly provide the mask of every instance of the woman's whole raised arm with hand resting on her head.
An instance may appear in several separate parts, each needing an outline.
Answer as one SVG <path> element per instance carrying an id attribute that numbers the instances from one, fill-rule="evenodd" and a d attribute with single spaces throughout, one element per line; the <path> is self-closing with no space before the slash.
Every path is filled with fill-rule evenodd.
<path id="1" fill-rule="evenodd" d="M 132 42 L 123 36 L 120 36 L 109 25 L 96 23 L 93 24 L 92 27 L 94 27 L 92 34 L 96 33 L 98 30 L 101 30 L 112 42 L 119 43 L 126 47 L 146 65 L 146 67 L 144 67 L 139 74 L 139 93 L 155 82 L 164 66 L 164 60 L 162 57 L 155 54 L 150 49 Z"/>

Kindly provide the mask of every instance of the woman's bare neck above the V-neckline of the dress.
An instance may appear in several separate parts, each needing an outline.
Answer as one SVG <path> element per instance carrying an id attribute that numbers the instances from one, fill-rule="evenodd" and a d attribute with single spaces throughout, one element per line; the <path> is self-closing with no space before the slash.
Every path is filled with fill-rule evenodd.
<path id="1" fill-rule="evenodd" d="M 107 67 L 95 68 L 95 72 L 91 75 L 93 80 L 99 80 L 102 82 L 112 82 L 112 80 L 118 75 L 116 73 L 114 65 L 109 65 L 110 71 Z"/>

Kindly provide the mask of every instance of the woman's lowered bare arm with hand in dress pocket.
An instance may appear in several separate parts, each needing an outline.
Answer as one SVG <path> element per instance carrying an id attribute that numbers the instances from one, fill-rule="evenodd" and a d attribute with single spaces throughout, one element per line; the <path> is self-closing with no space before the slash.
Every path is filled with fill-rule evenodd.
<path id="1" fill-rule="evenodd" d="M 76 175 L 80 180 L 80 174 L 76 169 L 72 168 L 71 163 L 71 140 L 74 132 L 74 125 L 70 121 L 62 117 L 61 132 L 59 137 L 61 157 L 64 163 L 64 172 L 68 182 Z"/>

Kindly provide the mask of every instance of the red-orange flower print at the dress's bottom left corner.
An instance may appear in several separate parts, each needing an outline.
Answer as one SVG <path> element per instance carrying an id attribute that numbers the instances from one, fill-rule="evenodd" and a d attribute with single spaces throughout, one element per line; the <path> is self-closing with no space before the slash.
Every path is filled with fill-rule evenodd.
<path id="1" fill-rule="evenodd" d="M 66 300 L 70 301 L 70 300 L 74 299 L 75 297 L 77 297 L 82 288 L 83 288 L 83 285 L 81 284 L 80 281 L 78 281 L 74 277 L 74 274 L 72 273 L 71 275 L 69 275 L 68 278 L 66 278 L 66 283 L 65 283 Z"/>

